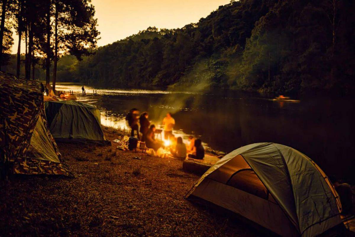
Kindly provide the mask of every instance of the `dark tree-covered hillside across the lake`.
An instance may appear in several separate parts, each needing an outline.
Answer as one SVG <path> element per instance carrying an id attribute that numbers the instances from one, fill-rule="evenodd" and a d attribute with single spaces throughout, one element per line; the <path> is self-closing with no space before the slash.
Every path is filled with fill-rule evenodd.
<path id="1" fill-rule="evenodd" d="M 276 93 L 350 93 L 354 5 L 353 0 L 235 1 L 181 29 L 149 27 L 100 47 L 58 77 L 103 86 L 203 83 Z"/>

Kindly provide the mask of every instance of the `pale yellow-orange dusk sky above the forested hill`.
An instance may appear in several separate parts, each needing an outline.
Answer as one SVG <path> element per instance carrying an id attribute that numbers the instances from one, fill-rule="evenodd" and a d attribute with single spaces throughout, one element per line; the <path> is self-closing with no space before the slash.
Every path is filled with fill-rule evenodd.
<path id="1" fill-rule="evenodd" d="M 230 0 L 92 0 L 101 39 L 107 45 L 136 34 L 149 26 L 181 28 L 228 4 Z M 12 52 L 17 53 L 18 37 L 14 33 Z M 24 45 L 21 46 L 24 51 Z M 22 50 L 21 50 L 22 51 Z"/>

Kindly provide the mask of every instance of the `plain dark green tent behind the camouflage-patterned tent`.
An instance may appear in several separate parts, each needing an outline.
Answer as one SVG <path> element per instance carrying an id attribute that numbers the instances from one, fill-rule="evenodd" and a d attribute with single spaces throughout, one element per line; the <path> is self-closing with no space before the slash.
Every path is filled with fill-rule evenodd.
<path id="1" fill-rule="evenodd" d="M 59 142 L 109 144 L 101 128 L 100 110 L 75 100 L 45 101 L 49 130 Z"/>

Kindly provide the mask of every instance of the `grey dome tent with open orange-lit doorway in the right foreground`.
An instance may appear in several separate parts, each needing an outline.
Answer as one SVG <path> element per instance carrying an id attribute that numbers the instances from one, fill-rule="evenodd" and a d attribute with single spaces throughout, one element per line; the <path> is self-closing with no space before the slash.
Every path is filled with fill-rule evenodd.
<path id="1" fill-rule="evenodd" d="M 201 198 L 281 236 L 316 236 L 342 222 L 333 185 L 310 158 L 275 143 L 232 151 L 197 181 Z"/>

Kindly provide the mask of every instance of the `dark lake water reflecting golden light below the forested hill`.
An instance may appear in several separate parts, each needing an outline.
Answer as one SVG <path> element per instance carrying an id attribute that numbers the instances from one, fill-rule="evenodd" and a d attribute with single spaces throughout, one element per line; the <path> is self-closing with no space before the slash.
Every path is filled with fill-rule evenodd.
<path id="1" fill-rule="evenodd" d="M 58 83 L 57 90 L 81 92 L 78 84 Z M 181 92 L 144 89 L 105 89 L 85 86 L 79 101 L 101 110 L 101 122 L 126 127 L 131 108 L 147 111 L 161 125 L 166 112 L 176 121 L 175 135 L 200 137 L 205 146 L 226 153 L 256 142 L 293 147 L 315 160 L 330 176 L 355 181 L 354 100 L 300 98 L 280 103 L 257 93 L 213 90 Z"/>

